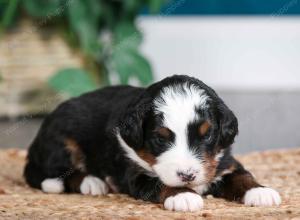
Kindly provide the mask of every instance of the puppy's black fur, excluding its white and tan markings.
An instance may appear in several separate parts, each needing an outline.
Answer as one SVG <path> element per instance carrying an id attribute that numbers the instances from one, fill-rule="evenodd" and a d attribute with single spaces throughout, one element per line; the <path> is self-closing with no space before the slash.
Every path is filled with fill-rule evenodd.
<path id="1" fill-rule="evenodd" d="M 137 152 L 145 150 L 156 157 L 166 151 L 168 143 L 176 137 L 170 133 L 166 140 L 152 132 L 159 127 L 162 119 L 162 116 L 154 115 L 153 99 L 159 96 L 162 88 L 183 83 L 205 90 L 211 98 L 210 108 L 199 114 L 202 114 L 203 119 L 209 119 L 213 126 L 205 137 L 199 137 L 193 131 L 201 122 L 190 124 L 189 142 L 193 148 L 203 146 L 199 152 L 207 152 L 208 155 L 226 149 L 215 176 L 222 175 L 222 171 L 229 168 L 233 169 L 232 173 L 224 177 L 221 185 L 212 184 L 209 193 L 233 199 L 234 196 L 223 193 L 225 188 L 230 187 L 227 183 L 239 173 L 248 173 L 230 154 L 230 145 L 238 132 L 237 119 L 213 89 L 188 76 L 169 77 L 148 88 L 107 87 L 61 104 L 45 119 L 29 149 L 24 171 L 27 183 L 41 188 L 41 182 L 46 178 L 60 178 L 64 180 L 67 192 L 78 192 L 78 187 L 70 183 L 73 179 L 87 174 L 102 180 L 110 176 L 121 193 L 138 199 L 163 202 L 169 194 L 162 196 L 162 191 L 168 186 L 127 158 L 116 138 L 116 132 L 119 131 L 126 143 Z M 74 140 L 80 147 L 85 171 L 76 169 L 72 164 L 71 153 L 66 149 L 66 139 Z M 244 188 L 246 190 L 247 187 Z M 234 195 L 235 188 L 230 190 Z M 240 196 L 245 191 L 238 193 Z"/>

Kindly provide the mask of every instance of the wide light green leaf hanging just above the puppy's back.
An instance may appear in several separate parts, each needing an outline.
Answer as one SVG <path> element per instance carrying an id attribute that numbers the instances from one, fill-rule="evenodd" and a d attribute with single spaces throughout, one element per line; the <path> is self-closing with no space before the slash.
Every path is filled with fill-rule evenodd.
<path id="1" fill-rule="evenodd" d="M 62 69 L 48 81 L 50 87 L 69 96 L 78 96 L 97 88 L 90 75 L 82 69 Z"/>

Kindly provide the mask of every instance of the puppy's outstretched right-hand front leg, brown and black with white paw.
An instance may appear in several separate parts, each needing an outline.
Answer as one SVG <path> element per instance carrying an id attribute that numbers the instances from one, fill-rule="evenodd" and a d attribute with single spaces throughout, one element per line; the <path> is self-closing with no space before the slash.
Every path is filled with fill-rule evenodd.
<path id="1" fill-rule="evenodd" d="M 231 173 L 225 174 L 221 181 L 211 186 L 211 194 L 243 202 L 248 206 L 272 206 L 281 203 L 278 192 L 258 184 L 249 171 L 234 158 L 231 159 Z"/>

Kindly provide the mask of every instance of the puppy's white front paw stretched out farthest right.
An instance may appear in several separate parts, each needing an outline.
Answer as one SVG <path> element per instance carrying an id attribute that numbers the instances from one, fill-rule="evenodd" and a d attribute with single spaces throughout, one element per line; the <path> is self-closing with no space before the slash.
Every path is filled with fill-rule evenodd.
<path id="1" fill-rule="evenodd" d="M 244 203 L 247 206 L 273 206 L 281 203 L 278 192 L 267 187 L 250 189 L 244 196 Z"/>

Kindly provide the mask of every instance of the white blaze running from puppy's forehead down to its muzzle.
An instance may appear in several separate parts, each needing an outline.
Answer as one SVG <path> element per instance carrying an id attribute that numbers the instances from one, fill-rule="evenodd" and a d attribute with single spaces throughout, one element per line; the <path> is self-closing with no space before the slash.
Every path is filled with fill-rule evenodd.
<path id="1" fill-rule="evenodd" d="M 207 108 L 207 100 L 204 90 L 183 84 L 164 88 L 154 101 L 155 112 L 162 114 L 163 126 L 175 133 L 175 142 L 157 158 L 153 166 L 168 185 L 181 184 L 177 171 L 196 173 L 195 182 L 204 180 L 202 161 L 189 148 L 187 127 L 197 119 L 196 109 Z"/>

